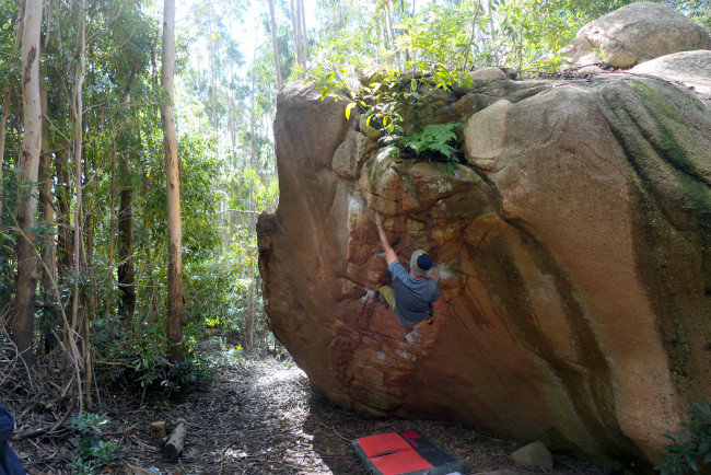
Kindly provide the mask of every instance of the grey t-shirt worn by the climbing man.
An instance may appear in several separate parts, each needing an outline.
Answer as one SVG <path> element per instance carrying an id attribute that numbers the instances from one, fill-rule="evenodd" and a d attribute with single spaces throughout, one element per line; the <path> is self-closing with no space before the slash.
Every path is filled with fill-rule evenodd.
<path id="1" fill-rule="evenodd" d="M 403 325 L 415 325 L 430 314 L 430 303 L 440 300 L 440 289 L 429 277 L 416 279 L 397 260 L 387 266 L 395 289 L 395 314 Z"/>

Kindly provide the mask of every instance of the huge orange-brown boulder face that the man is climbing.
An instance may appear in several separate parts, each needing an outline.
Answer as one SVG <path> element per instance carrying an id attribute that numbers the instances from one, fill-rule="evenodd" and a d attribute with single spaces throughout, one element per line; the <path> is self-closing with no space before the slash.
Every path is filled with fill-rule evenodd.
<path id="1" fill-rule="evenodd" d="M 257 230 L 271 329 L 346 408 L 656 461 L 711 394 L 709 104 L 626 76 L 515 101 L 499 81 L 454 174 L 378 149 L 347 101 L 282 90 Z M 424 248 L 441 271 L 431 326 L 364 299 L 389 283 L 375 210 L 404 265 Z"/>

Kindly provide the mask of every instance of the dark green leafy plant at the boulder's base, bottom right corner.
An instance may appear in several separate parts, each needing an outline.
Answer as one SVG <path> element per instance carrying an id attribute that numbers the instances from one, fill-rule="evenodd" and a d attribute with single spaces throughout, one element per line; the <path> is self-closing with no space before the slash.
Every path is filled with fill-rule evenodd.
<path id="1" fill-rule="evenodd" d="M 679 435 L 663 435 L 672 441 L 660 452 L 664 463 L 654 467 L 663 475 L 699 474 L 711 466 L 711 404 L 703 399 L 692 405 L 691 421 Z"/>

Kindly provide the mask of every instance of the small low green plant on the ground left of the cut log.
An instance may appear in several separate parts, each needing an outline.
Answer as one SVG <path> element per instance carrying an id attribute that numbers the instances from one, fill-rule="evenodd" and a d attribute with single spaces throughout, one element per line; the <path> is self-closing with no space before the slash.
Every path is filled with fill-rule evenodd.
<path id="1" fill-rule="evenodd" d="M 70 418 L 67 426 L 77 457 L 67 465 L 75 474 L 95 474 L 119 460 L 121 447 L 102 440 L 101 427 L 110 422 L 106 414 L 83 413 Z"/>

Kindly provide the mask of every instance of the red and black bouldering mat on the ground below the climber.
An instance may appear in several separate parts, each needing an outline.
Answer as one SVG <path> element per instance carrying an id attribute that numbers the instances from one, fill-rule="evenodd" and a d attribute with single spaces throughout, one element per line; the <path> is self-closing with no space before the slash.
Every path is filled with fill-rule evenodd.
<path id="1" fill-rule="evenodd" d="M 464 462 L 416 429 L 363 437 L 352 444 L 369 474 L 445 475 L 464 471 Z"/>

